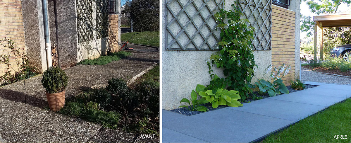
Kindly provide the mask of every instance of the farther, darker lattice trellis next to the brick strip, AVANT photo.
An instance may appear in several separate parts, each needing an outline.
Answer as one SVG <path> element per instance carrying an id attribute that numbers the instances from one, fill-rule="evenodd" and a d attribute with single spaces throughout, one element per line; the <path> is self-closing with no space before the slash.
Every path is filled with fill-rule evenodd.
<path id="1" fill-rule="evenodd" d="M 108 28 L 108 1 L 96 0 L 96 32 L 97 39 L 106 37 Z"/>

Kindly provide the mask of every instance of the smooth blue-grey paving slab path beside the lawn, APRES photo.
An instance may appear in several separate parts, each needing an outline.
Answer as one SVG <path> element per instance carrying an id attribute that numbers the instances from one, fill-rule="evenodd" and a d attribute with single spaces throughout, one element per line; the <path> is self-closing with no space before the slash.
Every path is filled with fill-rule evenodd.
<path id="1" fill-rule="evenodd" d="M 234 108 L 185 116 L 163 110 L 163 142 L 253 142 L 351 97 L 351 86 L 308 82 L 310 89 Z"/>

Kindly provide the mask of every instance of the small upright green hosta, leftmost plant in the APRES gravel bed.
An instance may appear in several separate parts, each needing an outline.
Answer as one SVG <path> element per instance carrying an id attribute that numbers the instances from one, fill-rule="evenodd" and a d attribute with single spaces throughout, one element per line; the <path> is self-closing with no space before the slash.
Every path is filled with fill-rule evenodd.
<path id="1" fill-rule="evenodd" d="M 198 84 L 196 86 L 196 92 L 200 92 L 200 91 L 203 91 L 205 89 L 205 86 L 204 85 L 200 85 Z M 194 90 L 191 91 L 191 98 L 190 100 L 186 99 L 186 98 L 183 98 L 180 100 L 180 103 L 183 103 L 183 102 L 186 102 L 188 103 L 190 106 L 187 106 L 187 105 L 181 105 L 179 107 L 185 107 L 187 108 L 189 111 L 201 111 L 201 112 L 206 112 L 208 111 L 208 109 L 205 107 L 205 106 L 202 106 L 202 105 L 199 105 L 199 104 L 204 104 L 204 103 L 208 103 L 208 101 L 203 97 L 201 98 L 200 100 L 197 99 L 198 97 L 198 94 L 196 93 Z"/>

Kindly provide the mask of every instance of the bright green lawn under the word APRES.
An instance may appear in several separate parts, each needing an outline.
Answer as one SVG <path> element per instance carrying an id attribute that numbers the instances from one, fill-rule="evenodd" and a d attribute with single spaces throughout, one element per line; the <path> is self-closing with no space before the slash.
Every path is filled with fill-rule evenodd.
<path id="1" fill-rule="evenodd" d="M 289 126 L 278 134 L 270 135 L 262 142 L 351 142 L 351 99 L 338 103 Z M 347 139 L 334 139 L 346 135 Z M 344 136 L 345 137 L 345 136 Z"/>

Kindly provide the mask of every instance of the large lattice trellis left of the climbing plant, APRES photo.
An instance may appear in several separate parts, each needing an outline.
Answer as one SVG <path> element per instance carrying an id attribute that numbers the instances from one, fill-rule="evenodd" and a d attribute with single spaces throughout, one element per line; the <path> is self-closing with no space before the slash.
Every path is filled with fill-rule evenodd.
<path id="1" fill-rule="evenodd" d="M 214 14 L 224 0 L 165 0 L 166 50 L 217 50 Z"/>

